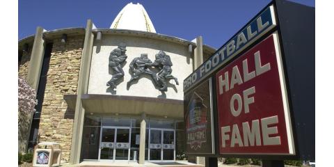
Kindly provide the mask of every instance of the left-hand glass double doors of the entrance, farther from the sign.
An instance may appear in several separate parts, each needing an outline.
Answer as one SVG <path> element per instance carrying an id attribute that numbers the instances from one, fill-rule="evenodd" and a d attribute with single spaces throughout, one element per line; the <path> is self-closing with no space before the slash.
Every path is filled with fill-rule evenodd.
<path id="1" fill-rule="evenodd" d="M 129 160 L 130 127 L 104 126 L 100 135 L 100 160 Z"/>

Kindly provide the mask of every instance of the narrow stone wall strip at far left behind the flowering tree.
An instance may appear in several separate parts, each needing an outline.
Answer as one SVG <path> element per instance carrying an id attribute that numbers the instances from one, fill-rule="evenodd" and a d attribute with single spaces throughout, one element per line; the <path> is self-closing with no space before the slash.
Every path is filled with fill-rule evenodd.
<path id="1" fill-rule="evenodd" d="M 31 58 L 32 46 L 29 47 L 28 51 L 22 53 L 22 59 L 19 63 L 19 77 L 26 79 L 28 76 L 29 62 Z M 18 118 L 18 151 L 26 152 L 26 146 L 29 139 L 29 125 L 32 114 L 27 113 L 17 113 Z"/>

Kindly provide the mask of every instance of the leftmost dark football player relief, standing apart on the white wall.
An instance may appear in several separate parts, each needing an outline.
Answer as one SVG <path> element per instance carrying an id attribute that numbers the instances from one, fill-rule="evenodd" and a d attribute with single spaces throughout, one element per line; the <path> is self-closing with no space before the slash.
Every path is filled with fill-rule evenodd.
<path id="1" fill-rule="evenodd" d="M 127 55 L 125 54 L 127 51 L 125 43 L 120 43 L 118 48 L 113 49 L 109 56 L 109 67 L 113 70 L 113 77 L 111 77 L 110 81 L 106 83 L 106 86 L 110 86 L 111 89 L 116 88 L 117 82 L 124 77 L 124 71 L 122 70 L 122 64 L 127 59 Z"/>

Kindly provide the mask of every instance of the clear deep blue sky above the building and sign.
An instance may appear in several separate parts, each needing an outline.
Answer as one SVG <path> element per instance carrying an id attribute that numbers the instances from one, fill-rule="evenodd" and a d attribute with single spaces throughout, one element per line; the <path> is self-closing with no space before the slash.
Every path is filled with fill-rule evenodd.
<path id="1" fill-rule="evenodd" d="M 85 27 L 92 19 L 97 28 L 109 28 L 127 3 L 141 3 L 157 33 L 193 40 L 202 35 L 206 45 L 216 49 L 237 33 L 270 0 L 19 0 L 19 39 L 46 30 Z M 294 0 L 315 6 L 315 0 Z"/>

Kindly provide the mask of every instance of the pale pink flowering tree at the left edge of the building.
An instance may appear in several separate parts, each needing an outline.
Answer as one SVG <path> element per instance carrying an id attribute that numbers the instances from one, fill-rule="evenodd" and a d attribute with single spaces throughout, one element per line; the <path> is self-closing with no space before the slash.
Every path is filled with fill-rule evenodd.
<path id="1" fill-rule="evenodd" d="M 19 77 L 19 112 L 35 112 L 36 104 L 35 90 L 33 90 L 22 77 Z"/>

